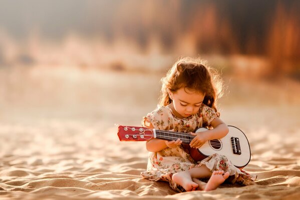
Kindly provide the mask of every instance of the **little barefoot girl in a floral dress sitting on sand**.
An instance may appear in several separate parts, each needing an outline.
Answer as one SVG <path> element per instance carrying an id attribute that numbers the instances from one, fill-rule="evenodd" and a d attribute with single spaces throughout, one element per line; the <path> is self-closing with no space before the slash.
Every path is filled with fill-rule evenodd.
<path id="1" fill-rule="evenodd" d="M 205 61 L 189 57 L 179 59 L 162 78 L 160 106 L 144 117 L 142 125 L 190 132 L 195 136 L 189 144 L 193 148 L 199 148 L 207 140 L 224 137 L 228 127 L 215 107 L 221 85 L 218 74 L 207 67 Z M 196 128 L 203 126 L 210 129 L 194 133 Z M 255 178 L 235 167 L 226 156 L 213 154 L 196 162 L 181 143 L 180 139 L 148 140 L 148 166 L 141 175 L 149 180 L 168 181 L 171 188 L 179 192 L 212 190 L 229 176 L 232 183 L 253 183 Z M 199 180 L 207 178 L 207 183 Z"/>

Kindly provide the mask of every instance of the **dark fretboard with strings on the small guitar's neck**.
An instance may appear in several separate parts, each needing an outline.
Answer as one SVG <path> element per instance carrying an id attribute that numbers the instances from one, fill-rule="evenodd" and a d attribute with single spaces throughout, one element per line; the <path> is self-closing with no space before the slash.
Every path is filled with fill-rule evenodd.
<path id="1" fill-rule="evenodd" d="M 180 139 L 182 140 L 182 143 L 190 143 L 192 141 L 192 139 L 195 137 L 189 133 L 185 133 L 185 132 L 174 132 L 174 131 L 169 131 L 169 130 L 158 130 L 155 129 L 155 133 L 156 133 L 156 138 L 159 139 L 165 139 L 165 140 L 176 140 L 176 139 Z"/>

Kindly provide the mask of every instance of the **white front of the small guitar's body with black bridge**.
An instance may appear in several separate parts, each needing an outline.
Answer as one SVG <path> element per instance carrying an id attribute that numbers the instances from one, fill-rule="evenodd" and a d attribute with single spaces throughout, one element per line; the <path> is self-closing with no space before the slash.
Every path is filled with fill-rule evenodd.
<path id="1" fill-rule="evenodd" d="M 198 151 L 204 156 L 214 153 L 225 155 L 232 164 L 240 168 L 245 166 L 251 158 L 251 151 L 247 137 L 235 126 L 228 125 L 229 132 L 221 139 L 213 139 L 204 143 Z M 206 128 L 198 128 L 196 132 L 202 132 Z"/>

